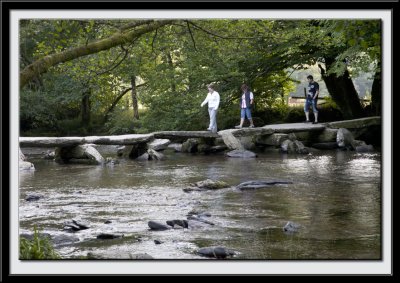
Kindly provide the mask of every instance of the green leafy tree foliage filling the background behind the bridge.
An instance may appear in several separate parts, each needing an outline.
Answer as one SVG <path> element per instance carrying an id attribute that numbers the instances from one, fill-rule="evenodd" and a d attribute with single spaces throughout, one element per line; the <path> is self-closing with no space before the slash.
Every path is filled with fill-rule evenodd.
<path id="1" fill-rule="evenodd" d="M 22 20 L 20 66 L 83 47 L 134 22 Z M 208 113 L 199 105 L 211 82 L 221 95 L 220 129 L 238 123 L 242 83 L 255 94 L 254 115 L 260 122 L 283 121 L 287 115 L 294 119 L 286 103 L 295 88 L 288 69 L 323 65 L 329 57 L 335 62 L 328 73 L 373 73 L 379 68 L 380 41 L 379 20 L 177 20 L 123 46 L 59 64 L 36 78 L 21 91 L 21 131 L 70 135 L 101 129 L 108 134 L 201 130 Z M 132 98 L 126 91 L 132 81 L 141 85 L 137 97 L 146 109 L 139 121 L 133 119 Z M 85 128 L 80 113 L 87 92 L 92 125 Z M 111 105 L 113 113 L 103 125 Z"/>

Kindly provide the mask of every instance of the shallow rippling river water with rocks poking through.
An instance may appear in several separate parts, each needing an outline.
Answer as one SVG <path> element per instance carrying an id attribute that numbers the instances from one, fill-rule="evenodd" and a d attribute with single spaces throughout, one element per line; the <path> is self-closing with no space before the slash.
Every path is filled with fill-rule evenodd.
<path id="1" fill-rule="evenodd" d="M 233 259 L 382 258 L 378 152 L 260 153 L 255 159 L 164 153 L 163 161 L 120 159 L 112 167 L 60 165 L 28 155 L 36 170 L 20 172 L 20 233 L 32 233 L 37 225 L 52 236 L 79 238 L 56 245 L 65 259 L 129 259 L 144 253 L 156 259 L 204 259 L 196 251 L 207 246 L 232 249 Z M 183 191 L 205 179 L 232 187 Z M 293 184 L 235 188 L 271 179 Z M 43 198 L 26 201 L 30 194 Z M 207 220 L 215 225 L 166 231 L 151 231 L 147 225 L 186 219 L 193 210 L 210 213 Z M 75 218 L 90 228 L 63 230 L 63 223 Z M 285 233 L 288 221 L 300 229 Z M 124 237 L 97 239 L 101 233 Z"/>

